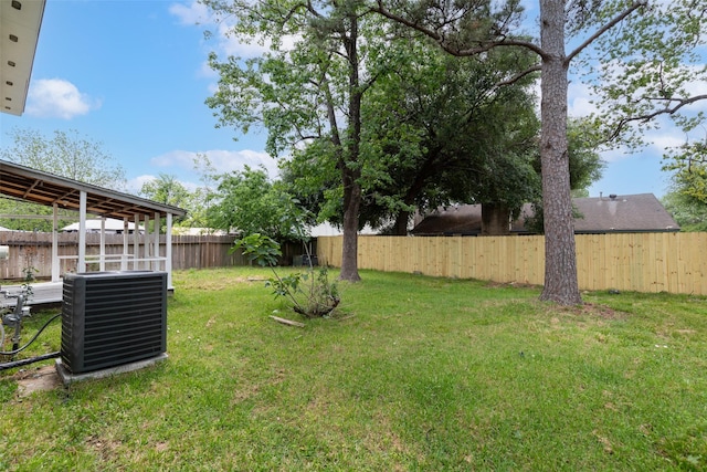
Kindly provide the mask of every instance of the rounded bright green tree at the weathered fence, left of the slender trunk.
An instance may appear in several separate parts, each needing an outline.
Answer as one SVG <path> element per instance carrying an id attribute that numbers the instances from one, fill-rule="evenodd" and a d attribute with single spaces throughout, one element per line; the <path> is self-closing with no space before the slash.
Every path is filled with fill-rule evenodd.
<path id="1" fill-rule="evenodd" d="M 263 234 L 278 242 L 306 238 L 297 204 L 281 185 L 273 183 L 263 169 L 219 177 L 217 200 L 208 209 L 209 225 L 240 234 Z"/>

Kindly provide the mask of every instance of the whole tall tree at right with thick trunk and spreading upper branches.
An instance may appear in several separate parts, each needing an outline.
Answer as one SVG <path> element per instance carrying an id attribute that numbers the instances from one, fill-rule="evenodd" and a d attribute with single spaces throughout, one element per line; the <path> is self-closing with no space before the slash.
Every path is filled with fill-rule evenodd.
<path id="1" fill-rule="evenodd" d="M 580 61 L 589 69 L 584 78 L 606 113 L 608 139 L 633 136 L 633 124 L 650 126 L 659 115 L 675 116 L 687 128 L 696 122 L 678 112 L 704 96 L 689 94 L 688 84 L 704 80 L 707 71 L 698 56 L 707 38 L 707 15 L 694 0 L 676 0 L 648 8 L 645 0 L 539 0 L 539 41 L 520 31 L 518 0 L 490 2 L 377 0 L 372 8 L 399 24 L 420 31 L 449 53 L 487 54 L 498 48 L 520 46 L 537 62 L 513 82 L 540 71 L 540 136 L 542 201 L 546 234 L 545 286 L 541 300 L 564 305 L 581 303 L 572 224 L 567 138 L 568 75 Z M 515 34 L 514 34 L 515 33 Z M 574 49 L 566 51 L 568 38 Z M 580 57 L 580 54 L 590 52 Z M 592 62 L 592 60 L 594 60 Z M 629 141 L 631 139 L 629 138 Z"/>

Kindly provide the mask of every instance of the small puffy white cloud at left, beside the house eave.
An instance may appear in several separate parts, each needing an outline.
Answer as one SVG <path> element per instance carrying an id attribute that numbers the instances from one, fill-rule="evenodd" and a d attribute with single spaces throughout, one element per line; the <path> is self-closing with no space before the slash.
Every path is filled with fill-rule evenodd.
<path id="1" fill-rule="evenodd" d="M 27 114 L 40 118 L 71 119 L 99 107 L 99 101 L 63 78 L 32 81 L 28 93 Z"/>

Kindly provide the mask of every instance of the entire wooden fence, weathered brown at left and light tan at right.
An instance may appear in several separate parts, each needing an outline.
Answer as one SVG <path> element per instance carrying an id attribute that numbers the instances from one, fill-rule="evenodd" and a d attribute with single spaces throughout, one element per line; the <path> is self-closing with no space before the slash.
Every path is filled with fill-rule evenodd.
<path id="1" fill-rule="evenodd" d="M 163 242 L 165 235 L 160 238 Z M 9 259 L 0 261 L 0 280 L 22 279 L 22 270 L 28 266 L 38 269 L 38 276 L 49 277 L 51 240 L 50 233 L 0 232 L 0 244 L 10 247 Z M 76 233 L 60 233 L 59 254 L 76 255 L 77 241 Z M 99 234 L 86 234 L 87 255 L 99 253 Z M 143 242 L 140 240 L 140 252 L 145 250 Z M 581 290 L 707 295 L 707 252 L 703 251 L 707 245 L 707 232 L 582 234 L 576 237 L 576 242 Z M 172 268 L 246 265 L 247 261 L 241 254 L 229 252 L 232 244 L 233 237 L 172 237 Z M 122 254 L 123 237 L 106 234 L 105 248 L 106 254 Z M 292 261 L 298 249 L 283 248 L 284 262 Z M 341 249 L 341 237 L 317 240 L 316 253 L 320 263 L 340 266 Z M 128 251 L 133 250 L 130 237 Z M 165 247 L 160 250 L 163 252 Z M 359 238 L 358 261 L 361 269 L 541 285 L 545 238 L 367 235 Z M 61 264 L 61 273 L 75 271 L 75 260 L 62 260 Z M 106 270 L 118 269 L 118 263 L 106 264 Z"/>

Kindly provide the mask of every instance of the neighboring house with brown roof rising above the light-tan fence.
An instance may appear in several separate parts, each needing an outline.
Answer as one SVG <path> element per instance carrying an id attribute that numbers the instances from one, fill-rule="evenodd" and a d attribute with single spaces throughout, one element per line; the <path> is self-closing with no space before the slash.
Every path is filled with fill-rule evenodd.
<path id="1" fill-rule="evenodd" d="M 680 227 L 653 193 L 576 198 L 572 203 L 582 218 L 574 219 L 576 234 L 610 232 L 679 231 Z M 525 204 L 511 227 L 511 234 L 528 234 L 525 220 L 532 207 Z M 440 208 L 418 223 L 413 235 L 478 235 L 482 231 L 481 204 Z"/>

